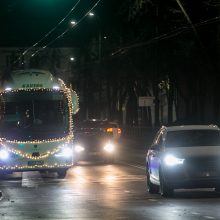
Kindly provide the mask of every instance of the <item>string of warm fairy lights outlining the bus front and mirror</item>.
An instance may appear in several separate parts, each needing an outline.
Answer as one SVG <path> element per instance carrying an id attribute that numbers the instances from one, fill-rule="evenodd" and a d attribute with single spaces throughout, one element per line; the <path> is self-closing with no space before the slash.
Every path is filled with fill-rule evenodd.
<path id="1" fill-rule="evenodd" d="M 73 91 L 71 88 L 68 88 L 65 83 L 63 82 L 63 80 L 58 79 L 61 88 L 64 93 L 65 98 L 67 99 L 67 105 L 68 105 L 68 121 L 69 121 L 69 133 L 66 137 L 62 137 L 62 138 L 54 138 L 54 139 L 45 139 L 45 140 L 33 140 L 33 141 L 19 141 L 19 140 L 7 140 L 6 138 L 1 138 L 0 139 L 0 144 L 1 146 L 7 150 L 8 152 L 11 152 L 13 154 L 16 154 L 22 158 L 26 158 L 26 159 L 30 159 L 30 160 L 39 160 L 39 159 L 45 159 L 48 158 L 49 156 L 52 156 L 54 154 L 56 154 L 57 152 L 59 152 L 60 150 L 62 150 L 66 144 L 71 143 L 72 139 L 73 139 L 73 118 L 72 115 L 75 114 L 79 108 L 79 103 L 78 103 L 78 96 L 75 93 L 75 91 Z M 54 91 L 53 89 L 49 89 L 49 88 L 19 88 L 19 89 L 14 89 L 11 90 L 10 92 L 12 93 L 16 93 L 16 92 L 20 92 L 20 91 L 27 91 L 27 92 L 37 92 L 37 91 Z M 7 93 L 7 91 L 3 91 L 0 93 L 0 98 L 3 99 L 3 95 Z M 75 95 L 75 100 L 77 101 L 77 103 L 73 103 L 72 102 L 72 95 Z M 74 106 L 73 106 L 74 105 Z M 74 111 L 73 111 L 74 109 Z M 51 150 L 47 150 L 44 153 L 41 153 L 39 156 L 33 156 L 31 153 L 27 153 L 21 150 L 18 150 L 16 147 L 13 147 L 14 145 L 19 145 L 19 144 L 49 144 L 49 143 L 60 143 L 58 146 L 56 147 L 52 147 Z M 54 167 L 63 167 L 65 166 L 65 164 L 53 164 L 53 165 L 34 165 L 34 166 L 27 166 L 27 165 L 15 165 L 15 166 L 0 166 L 0 169 L 32 169 L 32 168 L 54 168 Z"/>

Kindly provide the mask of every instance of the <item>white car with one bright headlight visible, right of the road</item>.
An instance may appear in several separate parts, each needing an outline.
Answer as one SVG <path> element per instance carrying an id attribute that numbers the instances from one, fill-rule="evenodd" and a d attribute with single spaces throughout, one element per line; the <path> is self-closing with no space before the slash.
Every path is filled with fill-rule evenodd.
<path id="1" fill-rule="evenodd" d="M 215 125 L 161 127 L 146 156 L 150 193 L 174 189 L 220 191 L 220 129 Z"/>

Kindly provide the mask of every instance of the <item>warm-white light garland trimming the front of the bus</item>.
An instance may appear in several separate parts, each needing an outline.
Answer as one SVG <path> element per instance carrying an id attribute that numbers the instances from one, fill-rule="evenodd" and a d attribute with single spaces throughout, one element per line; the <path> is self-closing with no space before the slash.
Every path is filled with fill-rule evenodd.
<path id="1" fill-rule="evenodd" d="M 18 141 L 18 140 L 7 140 L 5 138 L 0 138 L 0 143 L 2 144 L 2 146 L 8 150 L 11 153 L 14 153 L 16 155 L 19 155 L 23 158 L 27 158 L 27 159 L 31 159 L 31 160 L 39 160 L 39 159 L 45 159 L 51 155 L 54 155 L 55 153 L 57 153 L 58 151 L 60 151 L 62 148 L 64 148 L 65 144 L 70 143 L 71 140 L 73 140 L 73 118 L 72 115 L 77 113 L 79 108 L 79 99 L 78 96 L 76 94 L 75 91 L 73 91 L 72 89 L 69 89 L 66 87 L 65 83 L 63 82 L 63 80 L 58 79 L 58 81 L 61 84 L 62 90 L 65 97 L 67 98 L 67 104 L 68 104 L 68 108 L 69 108 L 69 114 L 68 114 L 68 119 L 69 119 L 69 134 L 66 137 L 63 138 L 54 138 L 54 139 L 46 139 L 46 140 L 33 140 L 33 141 Z M 15 93 L 15 92 L 20 92 L 20 91 L 27 91 L 27 92 L 35 92 L 35 91 L 54 91 L 54 89 L 50 89 L 50 88 L 19 88 L 19 89 L 12 89 L 10 90 L 10 93 Z M 77 99 L 77 108 L 75 111 L 73 111 L 73 102 L 72 102 L 72 93 L 74 92 L 74 95 L 76 96 Z M 8 93 L 8 91 L 1 91 L 0 95 L 2 96 L 3 94 Z M 9 143 L 9 144 L 46 144 L 46 143 L 51 143 L 51 142 L 61 142 L 64 141 L 66 142 L 65 144 L 58 146 L 56 148 L 53 148 L 50 151 L 47 151 L 46 153 L 41 154 L 40 156 L 36 157 L 36 156 L 32 156 L 29 153 L 25 153 L 22 152 L 20 150 L 17 150 L 13 147 L 7 147 L 4 143 Z M 47 166 L 47 165 L 43 165 L 42 167 L 47 167 L 47 168 L 53 168 L 54 166 Z M 58 165 L 57 165 L 58 166 Z M 56 166 L 56 167 L 57 167 Z M 15 167 L 19 167 L 17 165 L 15 165 Z M 40 168 L 40 165 L 34 166 L 35 168 Z M 13 169 L 13 167 L 9 167 L 10 169 Z M 31 168 L 30 166 L 20 166 L 20 169 L 25 169 L 25 168 Z M 0 169 L 2 169 L 2 167 L 0 167 Z"/>

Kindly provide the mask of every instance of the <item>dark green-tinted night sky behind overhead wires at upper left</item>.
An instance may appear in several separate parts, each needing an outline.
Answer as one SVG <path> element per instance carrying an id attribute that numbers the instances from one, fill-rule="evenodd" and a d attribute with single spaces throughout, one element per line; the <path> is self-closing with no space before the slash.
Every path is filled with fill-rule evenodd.
<path id="1" fill-rule="evenodd" d="M 0 46 L 31 46 L 66 16 L 78 0 L 1 0 L 0 1 Z M 80 19 L 97 0 L 81 0 L 76 10 L 45 43 L 68 28 L 68 20 Z M 94 10 L 102 25 L 114 18 L 110 13 L 109 0 L 102 0 Z M 113 1 L 114 2 L 114 1 Z M 110 8 L 108 8 L 110 7 Z M 114 13 L 114 11 L 113 11 Z M 112 16 L 113 18 L 110 18 Z M 89 18 L 87 18 L 89 19 Z M 97 22 L 84 19 L 77 28 L 52 46 L 78 46 L 97 31 Z M 100 22 L 99 21 L 99 22 Z"/>

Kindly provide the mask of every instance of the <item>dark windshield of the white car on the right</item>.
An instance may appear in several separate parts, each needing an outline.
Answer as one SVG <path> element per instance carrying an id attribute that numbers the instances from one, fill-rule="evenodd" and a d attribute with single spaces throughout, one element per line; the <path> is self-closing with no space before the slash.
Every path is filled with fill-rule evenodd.
<path id="1" fill-rule="evenodd" d="M 220 146 L 218 130 L 182 130 L 169 131 L 166 147 Z"/>

